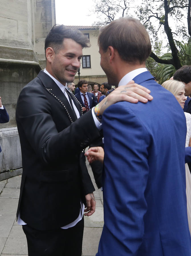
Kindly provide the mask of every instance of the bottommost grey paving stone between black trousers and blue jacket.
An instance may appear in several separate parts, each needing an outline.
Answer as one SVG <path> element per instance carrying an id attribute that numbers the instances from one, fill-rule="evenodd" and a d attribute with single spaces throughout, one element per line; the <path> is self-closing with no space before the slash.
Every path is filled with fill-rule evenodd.
<path id="1" fill-rule="evenodd" d="M 82 255 L 95 256 L 98 251 L 102 228 L 84 228 Z"/>

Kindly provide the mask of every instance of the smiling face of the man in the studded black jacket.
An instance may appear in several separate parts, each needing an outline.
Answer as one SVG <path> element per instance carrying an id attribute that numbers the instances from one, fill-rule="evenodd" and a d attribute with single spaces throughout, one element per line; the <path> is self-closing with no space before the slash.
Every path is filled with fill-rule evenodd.
<path id="1" fill-rule="evenodd" d="M 57 53 L 49 47 L 46 54 L 49 64 L 47 71 L 63 85 L 66 82 L 73 82 L 80 67 L 82 46 L 71 38 L 65 38 L 63 47 Z"/>

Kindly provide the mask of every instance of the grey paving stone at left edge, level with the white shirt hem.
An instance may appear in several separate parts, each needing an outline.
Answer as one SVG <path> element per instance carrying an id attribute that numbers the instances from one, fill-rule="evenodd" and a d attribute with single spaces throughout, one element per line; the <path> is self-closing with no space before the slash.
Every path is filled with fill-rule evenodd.
<path id="1" fill-rule="evenodd" d="M 15 221 L 15 214 L 0 214 L 0 238 L 7 238 Z"/>

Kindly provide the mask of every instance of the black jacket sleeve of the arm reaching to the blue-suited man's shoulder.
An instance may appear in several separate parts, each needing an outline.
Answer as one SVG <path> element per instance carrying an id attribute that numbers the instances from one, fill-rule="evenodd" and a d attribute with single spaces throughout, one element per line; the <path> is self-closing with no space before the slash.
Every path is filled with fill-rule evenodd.
<path id="1" fill-rule="evenodd" d="M 18 128 L 39 158 L 45 164 L 53 164 L 60 159 L 67 160 L 71 152 L 80 153 L 100 135 L 91 111 L 58 132 L 52 118 L 54 105 L 51 106 L 43 90 L 36 86 L 22 90 L 17 102 L 16 119 Z"/>

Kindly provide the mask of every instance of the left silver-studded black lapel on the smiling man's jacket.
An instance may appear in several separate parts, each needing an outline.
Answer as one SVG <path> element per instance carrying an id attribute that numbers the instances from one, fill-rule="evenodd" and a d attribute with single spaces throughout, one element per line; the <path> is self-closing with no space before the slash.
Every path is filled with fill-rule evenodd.
<path id="1" fill-rule="evenodd" d="M 44 88 L 49 92 L 52 97 L 57 100 L 63 109 L 65 110 L 69 120 L 72 122 L 75 121 L 75 116 L 73 113 L 73 110 L 66 98 L 66 96 L 63 94 L 63 92 L 60 90 L 60 88 L 57 86 L 57 84 L 52 80 L 51 77 L 49 77 L 46 73 L 43 71 L 40 71 L 38 74 L 38 78 L 42 81 Z M 73 98 L 72 98 L 73 99 Z M 82 114 L 82 110 L 79 111 L 80 115 Z"/>

